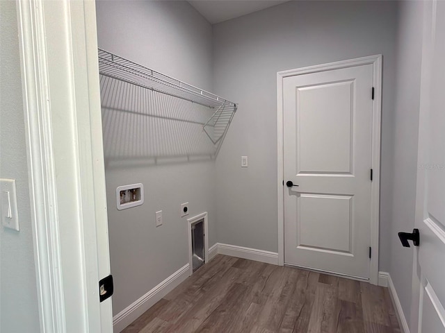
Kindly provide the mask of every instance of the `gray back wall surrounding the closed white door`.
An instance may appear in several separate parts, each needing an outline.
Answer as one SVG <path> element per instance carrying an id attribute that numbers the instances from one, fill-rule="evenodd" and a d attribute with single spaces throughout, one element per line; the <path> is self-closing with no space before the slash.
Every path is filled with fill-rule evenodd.
<path id="1" fill-rule="evenodd" d="M 382 53 L 380 269 L 389 269 L 397 18 L 394 1 L 289 1 L 213 26 L 213 86 L 239 103 L 216 160 L 218 241 L 277 252 L 277 71 Z"/>

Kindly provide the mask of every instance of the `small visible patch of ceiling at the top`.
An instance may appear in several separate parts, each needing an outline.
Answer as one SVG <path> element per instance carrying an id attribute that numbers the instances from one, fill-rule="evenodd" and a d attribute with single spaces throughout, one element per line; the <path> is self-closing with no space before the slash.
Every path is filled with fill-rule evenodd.
<path id="1" fill-rule="evenodd" d="M 188 1 L 211 24 L 257 12 L 288 0 L 191 0 Z"/>

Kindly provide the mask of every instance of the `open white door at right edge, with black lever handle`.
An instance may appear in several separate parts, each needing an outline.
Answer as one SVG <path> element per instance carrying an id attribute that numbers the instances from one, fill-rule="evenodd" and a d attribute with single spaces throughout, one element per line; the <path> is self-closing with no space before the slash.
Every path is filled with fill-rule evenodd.
<path id="1" fill-rule="evenodd" d="M 445 332 L 445 2 L 426 1 L 424 6 L 415 221 L 420 242 L 414 255 L 412 332 L 442 333 Z"/>

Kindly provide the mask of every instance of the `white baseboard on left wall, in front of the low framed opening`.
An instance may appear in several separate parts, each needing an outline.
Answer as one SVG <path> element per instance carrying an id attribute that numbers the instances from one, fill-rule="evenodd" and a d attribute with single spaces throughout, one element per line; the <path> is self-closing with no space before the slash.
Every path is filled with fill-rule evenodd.
<path id="1" fill-rule="evenodd" d="M 163 280 L 156 287 L 145 293 L 144 296 L 131 303 L 113 317 L 113 332 L 121 332 L 125 327 L 133 323 L 140 315 L 156 304 L 161 298 L 175 289 L 181 282 L 188 278 L 189 265 L 181 267 L 178 271 Z"/>

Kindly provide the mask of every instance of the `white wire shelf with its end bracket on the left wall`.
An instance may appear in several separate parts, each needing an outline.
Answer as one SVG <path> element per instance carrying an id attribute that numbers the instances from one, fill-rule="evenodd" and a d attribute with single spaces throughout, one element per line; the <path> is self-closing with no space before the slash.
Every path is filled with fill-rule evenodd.
<path id="1" fill-rule="evenodd" d="M 197 103 L 213 111 L 211 117 L 202 125 L 202 130 L 215 145 L 215 151 L 218 153 L 238 108 L 236 103 L 103 49 L 98 49 L 98 56 L 101 76 Z"/>

